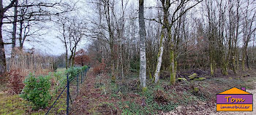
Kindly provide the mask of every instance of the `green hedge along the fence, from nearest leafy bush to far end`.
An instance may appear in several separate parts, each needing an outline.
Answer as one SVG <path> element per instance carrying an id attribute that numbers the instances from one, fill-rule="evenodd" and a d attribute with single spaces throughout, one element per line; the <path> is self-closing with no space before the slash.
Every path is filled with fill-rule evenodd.
<path id="1" fill-rule="evenodd" d="M 67 84 L 67 74 L 69 80 L 75 79 L 80 72 L 85 71 L 88 66 L 71 67 L 66 71 L 49 73 L 48 76 L 34 76 L 29 74 L 24 81 L 25 87 L 20 94 L 24 100 L 28 100 L 33 108 L 45 108 L 53 95 Z M 51 86 L 51 79 L 55 79 L 56 84 Z M 50 93 L 51 88 L 54 92 Z"/>

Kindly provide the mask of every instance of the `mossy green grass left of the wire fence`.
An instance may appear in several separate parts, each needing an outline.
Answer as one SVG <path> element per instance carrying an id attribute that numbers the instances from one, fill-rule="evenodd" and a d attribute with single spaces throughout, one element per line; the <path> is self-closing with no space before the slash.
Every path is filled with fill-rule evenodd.
<path id="1" fill-rule="evenodd" d="M 65 71 L 66 68 L 60 68 L 58 71 Z M 31 104 L 20 98 L 19 95 L 10 95 L 6 91 L 7 87 L 7 81 L 1 80 L 3 78 L 0 78 L 1 86 L 0 86 L 0 114 L 45 114 L 48 109 L 39 109 L 39 110 L 33 110 Z M 53 93 L 53 92 L 52 92 Z M 64 114 L 66 112 L 66 96 L 65 93 L 61 95 L 61 98 L 57 100 L 56 104 L 53 106 L 53 108 L 50 110 L 49 114 Z M 53 95 L 55 94 L 55 95 Z M 50 107 L 53 102 L 56 100 L 58 93 L 53 93 L 53 98 L 49 101 L 48 107 Z"/>

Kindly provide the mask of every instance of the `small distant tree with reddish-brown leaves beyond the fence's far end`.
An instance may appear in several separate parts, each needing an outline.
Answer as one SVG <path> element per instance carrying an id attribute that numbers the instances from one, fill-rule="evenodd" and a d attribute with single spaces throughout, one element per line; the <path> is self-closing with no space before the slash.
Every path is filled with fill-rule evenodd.
<path id="1" fill-rule="evenodd" d="M 86 55 L 86 52 L 83 49 L 80 49 L 75 53 L 75 64 L 80 66 L 88 65 L 90 60 L 90 57 Z"/>

